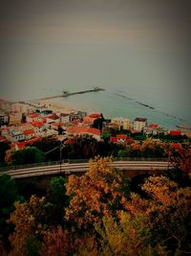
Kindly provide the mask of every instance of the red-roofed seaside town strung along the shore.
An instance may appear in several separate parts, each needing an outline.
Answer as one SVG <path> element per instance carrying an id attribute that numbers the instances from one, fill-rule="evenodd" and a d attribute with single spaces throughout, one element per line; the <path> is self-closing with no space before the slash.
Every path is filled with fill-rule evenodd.
<path id="1" fill-rule="evenodd" d="M 0 113 L 0 142 L 7 143 L 11 151 L 32 146 L 42 138 L 52 138 L 65 144 L 73 144 L 74 138 L 86 137 L 97 142 L 107 140 L 112 144 L 130 145 L 132 142 L 152 138 L 153 141 L 167 140 L 175 147 L 189 139 L 189 129 L 162 128 L 149 124 L 147 118 L 135 120 L 114 117 L 105 119 L 102 113 L 85 111 L 53 111 L 52 105 L 2 102 Z M 93 155 L 94 156 L 94 155 Z M 118 152 L 116 156 L 128 156 Z M 144 155 L 143 155 L 144 156 Z"/>

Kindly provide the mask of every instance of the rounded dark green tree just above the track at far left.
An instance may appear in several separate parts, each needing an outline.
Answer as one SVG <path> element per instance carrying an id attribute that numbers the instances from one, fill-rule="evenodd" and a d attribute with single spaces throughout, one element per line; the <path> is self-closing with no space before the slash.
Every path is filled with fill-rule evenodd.
<path id="1" fill-rule="evenodd" d="M 20 151 L 12 152 L 12 164 L 32 164 L 45 161 L 45 153 L 35 147 L 27 147 Z"/>

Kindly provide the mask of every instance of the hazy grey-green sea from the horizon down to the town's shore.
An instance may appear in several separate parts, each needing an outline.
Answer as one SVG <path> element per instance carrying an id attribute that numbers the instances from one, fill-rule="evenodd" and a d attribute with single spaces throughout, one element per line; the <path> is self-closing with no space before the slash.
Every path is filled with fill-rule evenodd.
<path id="1" fill-rule="evenodd" d="M 30 101 L 98 86 L 104 91 L 54 99 L 105 118 L 191 125 L 186 55 L 110 45 L 21 45 L 1 52 L 1 98 Z M 9 51 L 8 51 L 9 50 Z"/>

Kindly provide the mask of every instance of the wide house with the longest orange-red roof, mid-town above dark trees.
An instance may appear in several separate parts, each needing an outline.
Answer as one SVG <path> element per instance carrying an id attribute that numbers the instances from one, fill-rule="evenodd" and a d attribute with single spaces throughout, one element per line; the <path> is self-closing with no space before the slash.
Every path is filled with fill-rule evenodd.
<path id="1" fill-rule="evenodd" d="M 80 127 L 74 127 L 74 128 L 66 128 L 67 135 L 92 135 L 97 141 L 100 140 L 100 130 L 98 128 L 80 128 Z"/>

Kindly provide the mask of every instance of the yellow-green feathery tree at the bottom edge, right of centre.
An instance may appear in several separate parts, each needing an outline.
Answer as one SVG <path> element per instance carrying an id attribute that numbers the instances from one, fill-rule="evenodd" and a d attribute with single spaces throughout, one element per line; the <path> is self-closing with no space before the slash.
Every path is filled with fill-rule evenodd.
<path id="1" fill-rule="evenodd" d="M 101 237 L 97 255 L 165 255 L 161 246 L 152 247 L 150 244 L 147 222 L 146 215 L 133 216 L 124 211 L 118 212 L 118 221 L 113 217 L 103 217 L 102 222 L 96 224 L 96 231 Z"/>

